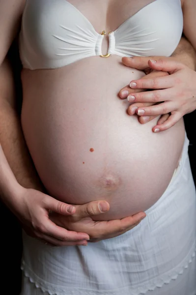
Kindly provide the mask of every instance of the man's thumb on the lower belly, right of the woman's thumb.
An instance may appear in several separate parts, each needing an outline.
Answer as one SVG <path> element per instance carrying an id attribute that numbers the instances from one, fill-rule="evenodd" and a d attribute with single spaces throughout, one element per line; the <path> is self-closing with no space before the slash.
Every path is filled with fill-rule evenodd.
<path id="1" fill-rule="evenodd" d="M 99 215 L 108 212 L 109 209 L 110 205 L 106 201 L 92 201 L 84 205 L 77 205 L 76 214 L 78 218 L 82 219 L 84 217 Z"/>

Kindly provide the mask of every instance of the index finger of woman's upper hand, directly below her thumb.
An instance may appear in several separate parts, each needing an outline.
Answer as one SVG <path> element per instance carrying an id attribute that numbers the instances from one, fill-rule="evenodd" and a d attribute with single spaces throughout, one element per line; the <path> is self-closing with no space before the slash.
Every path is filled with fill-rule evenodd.
<path id="1" fill-rule="evenodd" d="M 157 77 L 150 79 L 139 79 L 130 82 L 132 89 L 165 89 L 173 87 L 173 78 L 171 75 L 167 77 Z"/>

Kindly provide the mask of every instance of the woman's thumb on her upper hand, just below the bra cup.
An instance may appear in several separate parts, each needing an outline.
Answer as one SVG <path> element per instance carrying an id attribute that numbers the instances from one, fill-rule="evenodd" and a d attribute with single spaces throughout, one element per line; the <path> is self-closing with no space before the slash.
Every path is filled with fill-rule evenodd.
<path id="1" fill-rule="evenodd" d="M 166 59 L 149 59 L 148 65 L 152 69 L 169 72 L 170 74 L 186 67 L 183 63 L 172 60 L 171 58 L 170 59 L 167 59 L 167 58 Z"/>

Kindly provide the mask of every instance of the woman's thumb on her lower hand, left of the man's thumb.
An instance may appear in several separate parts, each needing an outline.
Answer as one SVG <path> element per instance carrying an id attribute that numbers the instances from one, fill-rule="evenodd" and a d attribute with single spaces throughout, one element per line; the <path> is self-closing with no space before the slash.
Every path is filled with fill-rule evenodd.
<path id="1" fill-rule="evenodd" d="M 74 206 L 57 201 L 50 196 L 46 197 L 44 204 L 46 209 L 52 210 L 62 215 L 72 215 L 76 212 L 76 208 Z"/>

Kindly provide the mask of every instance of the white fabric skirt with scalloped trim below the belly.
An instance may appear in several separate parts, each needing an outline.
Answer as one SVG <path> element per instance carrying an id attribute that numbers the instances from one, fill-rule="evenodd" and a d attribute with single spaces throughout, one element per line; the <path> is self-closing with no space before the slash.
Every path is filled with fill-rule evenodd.
<path id="1" fill-rule="evenodd" d="M 185 138 L 179 167 L 133 230 L 87 247 L 24 234 L 21 295 L 196 295 L 196 189 Z"/>

